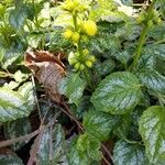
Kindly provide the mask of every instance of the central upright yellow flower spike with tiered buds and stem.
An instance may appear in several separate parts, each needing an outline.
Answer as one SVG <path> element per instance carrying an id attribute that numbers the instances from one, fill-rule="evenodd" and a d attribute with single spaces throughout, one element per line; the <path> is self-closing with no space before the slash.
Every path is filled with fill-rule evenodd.
<path id="1" fill-rule="evenodd" d="M 62 9 L 73 16 L 73 25 L 65 28 L 63 36 L 76 45 L 76 52 L 72 52 L 68 62 L 74 65 L 76 70 L 84 70 L 86 67 L 92 67 L 96 58 L 87 48 L 82 48 L 84 38 L 95 36 L 97 34 L 97 24 L 92 20 L 88 20 L 89 3 L 81 0 L 66 0 L 62 3 Z M 87 40 L 86 40 L 87 41 Z"/>

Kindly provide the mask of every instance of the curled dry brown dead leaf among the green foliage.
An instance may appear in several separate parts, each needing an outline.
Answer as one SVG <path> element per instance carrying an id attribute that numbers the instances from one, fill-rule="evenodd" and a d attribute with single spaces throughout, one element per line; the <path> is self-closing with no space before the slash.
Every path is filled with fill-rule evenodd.
<path id="1" fill-rule="evenodd" d="M 45 51 L 28 51 L 24 57 L 28 66 L 41 84 L 44 85 L 50 97 L 61 101 L 57 84 L 65 77 L 65 66 L 59 56 Z"/>

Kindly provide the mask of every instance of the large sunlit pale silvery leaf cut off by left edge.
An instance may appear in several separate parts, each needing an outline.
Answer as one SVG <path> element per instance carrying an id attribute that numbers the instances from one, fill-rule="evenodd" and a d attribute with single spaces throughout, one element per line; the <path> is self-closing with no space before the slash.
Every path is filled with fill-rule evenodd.
<path id="1" fill-rule="evenodd" d="M 34 106 L 32 84 L 23 85 L 19 91 L 0 88 L 0 122 L 28 117 Z"/>

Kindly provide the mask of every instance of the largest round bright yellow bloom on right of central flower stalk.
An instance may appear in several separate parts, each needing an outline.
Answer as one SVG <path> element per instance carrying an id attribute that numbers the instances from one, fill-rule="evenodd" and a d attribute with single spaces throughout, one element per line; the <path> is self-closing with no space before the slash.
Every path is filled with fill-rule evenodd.
<path id="1" fill-rule="evenodd" d="M 97 33 L 97 25 L 94 21 L 86 21 L 82 24 L 82 32 L 85 32 L 89 36 L 94 36 Z"/>

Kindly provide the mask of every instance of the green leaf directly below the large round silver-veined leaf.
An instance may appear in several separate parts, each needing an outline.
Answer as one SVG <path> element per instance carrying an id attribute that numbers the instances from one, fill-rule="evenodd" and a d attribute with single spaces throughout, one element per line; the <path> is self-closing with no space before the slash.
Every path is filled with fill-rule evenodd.
<path id="1" fill-rule="evenodd" d="M 88 111 L 84 117 L 84 128 L 86 133 L 96 140 L 105 141 L 109 138 L 110 131 L 117 123 L 117 119 L 105 112 Z"/>

